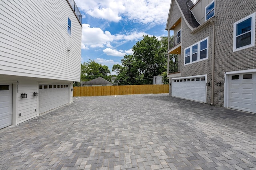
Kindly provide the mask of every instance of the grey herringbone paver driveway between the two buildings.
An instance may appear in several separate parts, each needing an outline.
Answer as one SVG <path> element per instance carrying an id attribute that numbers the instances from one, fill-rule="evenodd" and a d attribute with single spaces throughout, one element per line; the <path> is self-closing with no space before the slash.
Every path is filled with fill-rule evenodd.
<path id="1" fill-rule="evenodd" d="M 0 130 L 0 169 L 256 169 L 256 115 L 167 94 L 74 98 Z"/>

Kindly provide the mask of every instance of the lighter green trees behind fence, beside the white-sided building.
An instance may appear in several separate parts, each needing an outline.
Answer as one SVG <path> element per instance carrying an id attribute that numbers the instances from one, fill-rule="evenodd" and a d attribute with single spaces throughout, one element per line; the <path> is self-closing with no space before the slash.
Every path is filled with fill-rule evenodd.
<path id="1" fill-rule="evenodd" d="M 102 77 L 111 82 L 110 70 L 108 66 L 89 60 L 87 63 L 81 64 L 81 81 L 89 81 L 94 78 Z"/>

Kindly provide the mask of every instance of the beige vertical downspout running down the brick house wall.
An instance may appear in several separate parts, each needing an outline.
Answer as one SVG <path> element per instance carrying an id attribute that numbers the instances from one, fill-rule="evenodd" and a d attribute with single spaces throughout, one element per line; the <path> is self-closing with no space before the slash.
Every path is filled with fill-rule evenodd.
<path id="1" fill-rule="evenodd" d="M 215 58 L 215 23 L 211 20 L 212 24 L 212 98 L 211 98 L 211 105 L 214 104 L 214 58 Z"/>

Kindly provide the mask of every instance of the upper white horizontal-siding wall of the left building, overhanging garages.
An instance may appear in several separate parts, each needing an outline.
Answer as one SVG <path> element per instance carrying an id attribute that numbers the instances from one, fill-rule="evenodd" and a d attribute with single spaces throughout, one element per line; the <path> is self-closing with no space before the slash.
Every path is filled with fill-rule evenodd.
<path id="1" fill-rule="evenodd" d="M 66 0 L 1 1 L 0 18 L 0 74 L 80 81 L 82 27 Z"/>

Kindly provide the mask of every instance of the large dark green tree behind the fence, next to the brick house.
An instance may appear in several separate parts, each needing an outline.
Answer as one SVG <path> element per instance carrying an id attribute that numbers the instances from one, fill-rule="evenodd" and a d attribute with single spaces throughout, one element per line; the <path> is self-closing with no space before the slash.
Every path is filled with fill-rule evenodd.
<path id="1" fill-rule="evenodd" d="M 133 55 L 125 55 L 122 66 L 116 64 L 118 85 L 153 84 L 153 77 L 167 70 L 168 38 L 143 35 L 143 39 L 132 47 Z"/>

